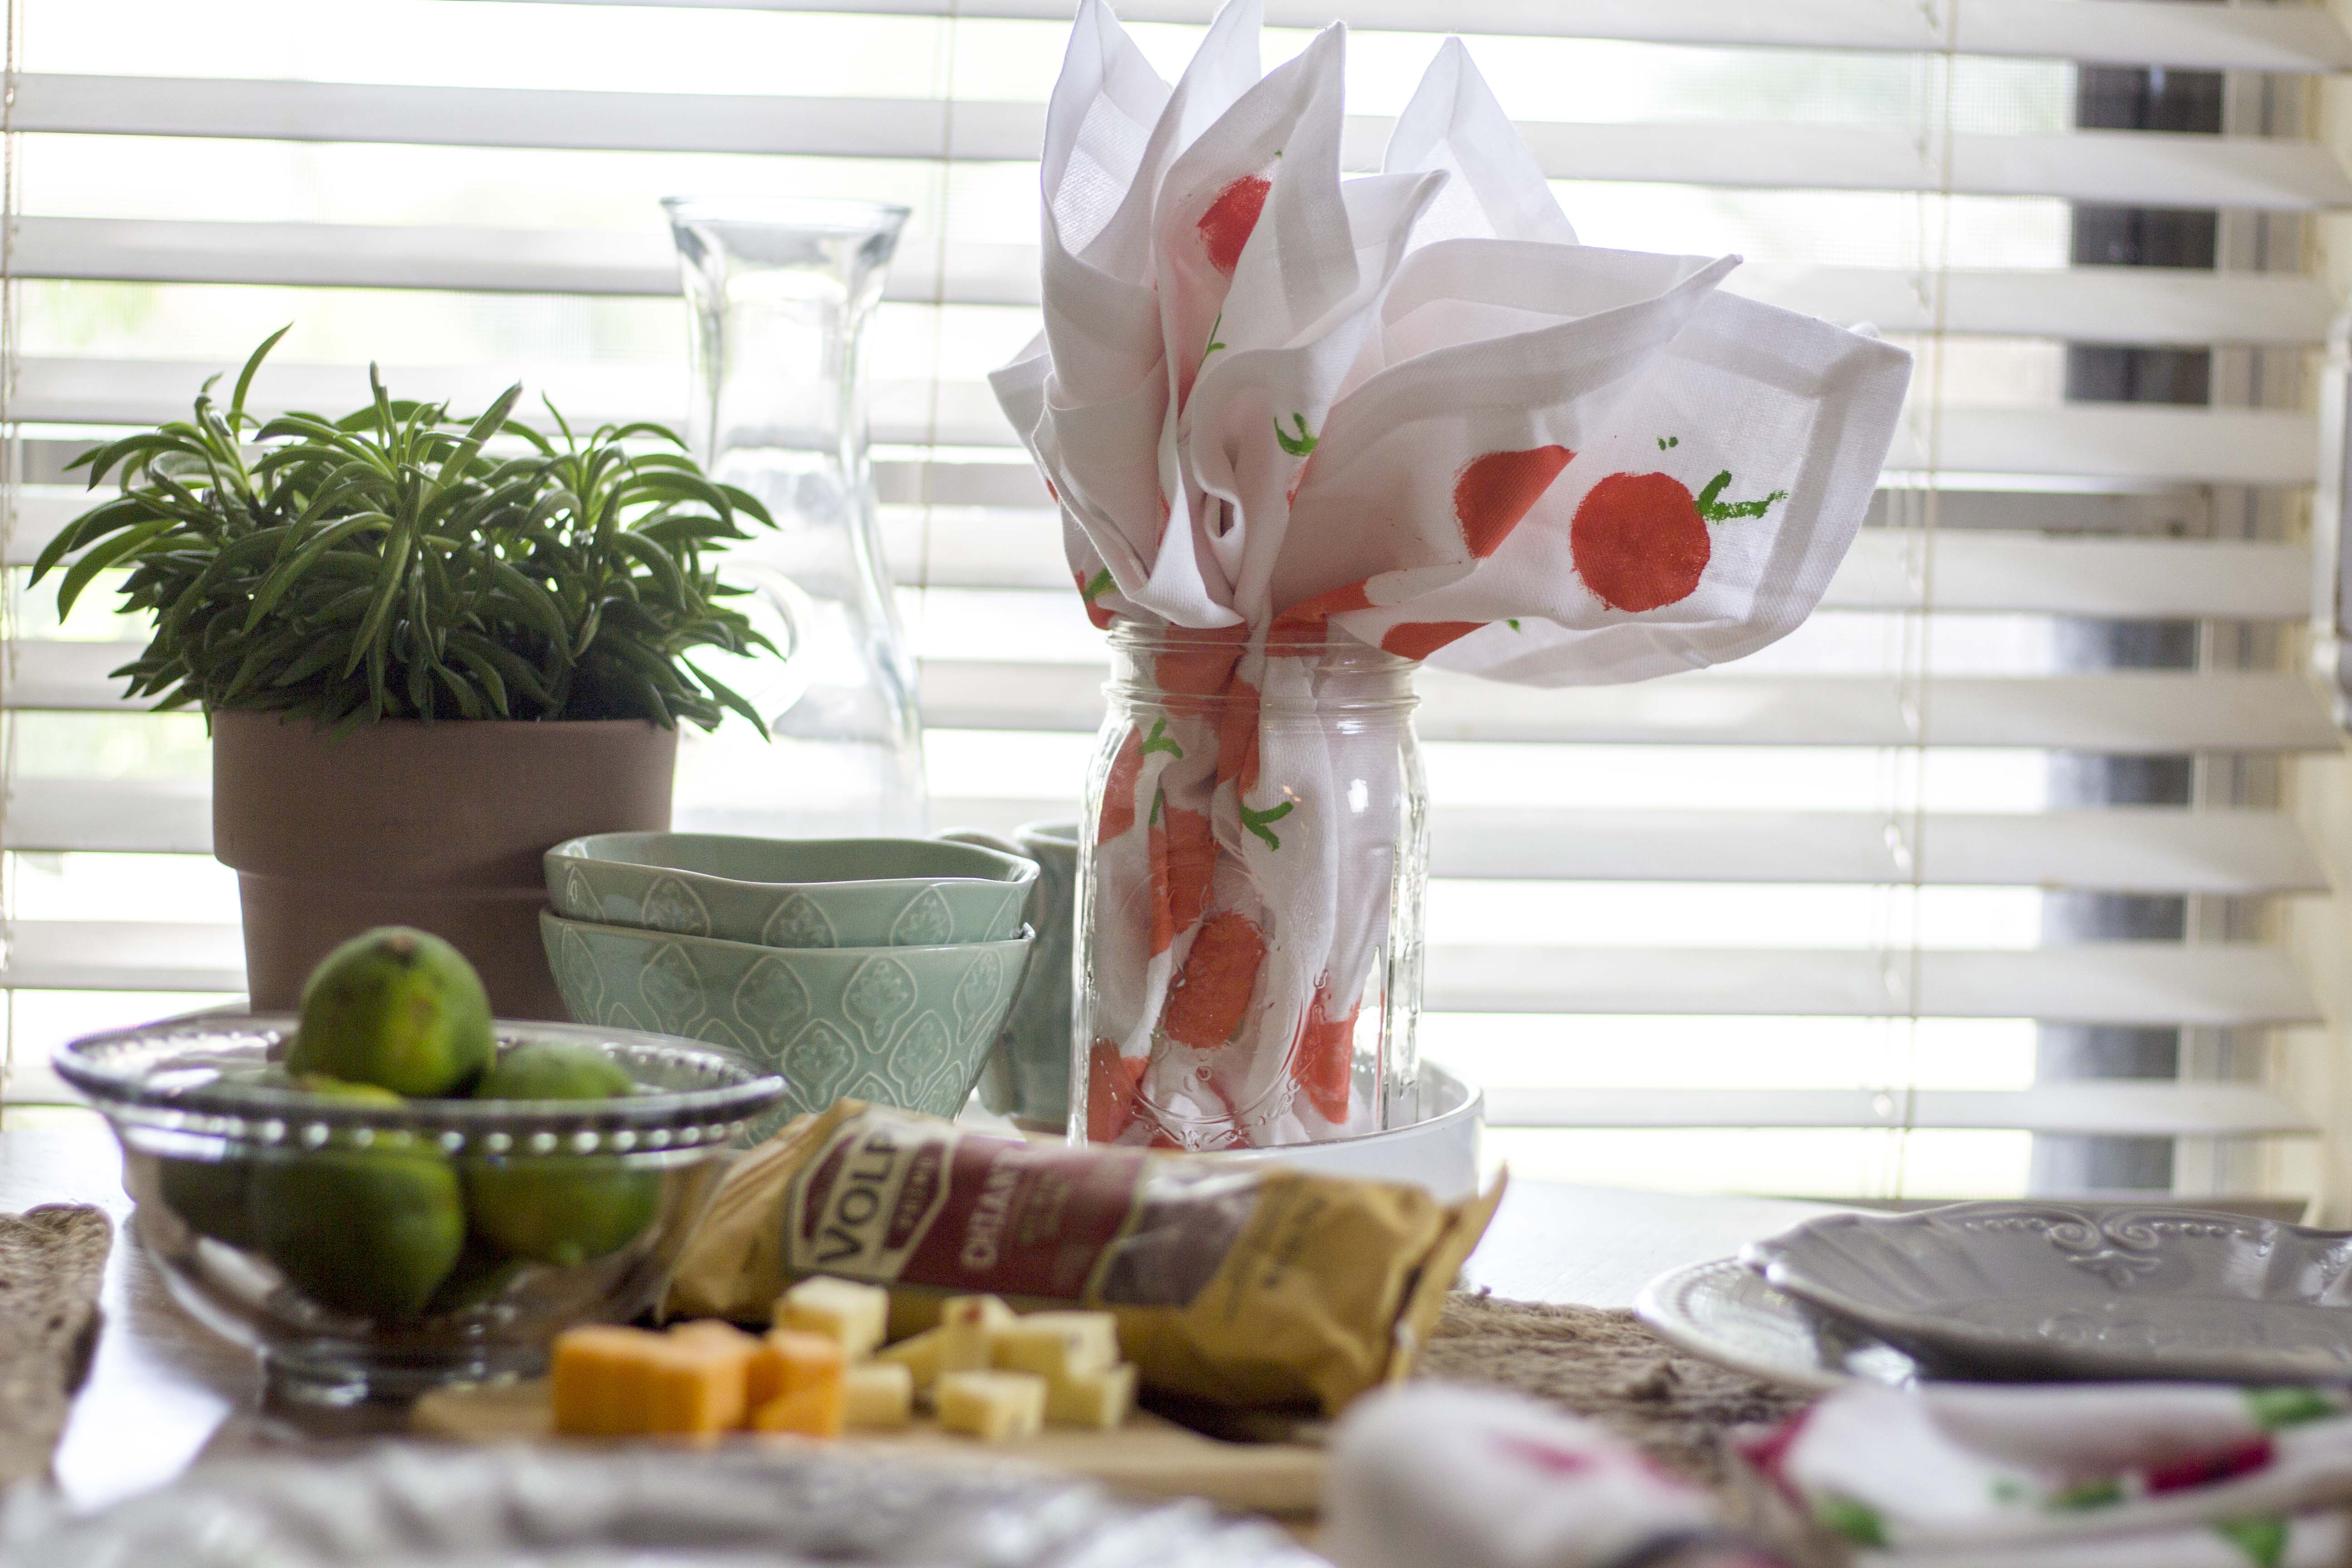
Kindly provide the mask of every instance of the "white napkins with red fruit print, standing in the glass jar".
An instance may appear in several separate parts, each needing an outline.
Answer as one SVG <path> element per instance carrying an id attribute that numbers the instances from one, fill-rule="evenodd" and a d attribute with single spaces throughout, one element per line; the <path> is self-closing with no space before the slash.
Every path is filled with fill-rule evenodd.
<path id="1" fill-rule="evenodd" d="M 1343 179 L 1345 31 L 1263 80 L 1256 35 L 1232 0 L 1169 87 L 1082 0 L 1044 331 L 993 376 L 1089 614 L 1202 632 L 1162 679 L 1225 698 L 1129 736 L 1098 823 L 1091 1131 L 1131 1143 L 1167 1140 L 1134 1088 L 1202 1145 L 1376 1121 L 1345 1058 L 1392 816 L 1336 811 L 1357 757 L 1254 719 L 1317 682 L 1272 630 L 1538 686 L 1738 658 L 1820 599 L 1910 378 L 1719 294 L 1736 256 L 1576 244 L 1458 40 Z"/>

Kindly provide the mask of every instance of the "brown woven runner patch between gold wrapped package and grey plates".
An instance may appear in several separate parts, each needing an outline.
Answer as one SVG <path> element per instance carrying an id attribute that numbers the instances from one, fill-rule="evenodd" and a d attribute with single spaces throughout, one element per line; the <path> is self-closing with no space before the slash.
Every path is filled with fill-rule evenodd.
<path id="1" fill-rule="evenodd" d="M 1686 1356 L 1630 1312 L 1548 1307 L 1461 1291 L 1446 1300 L 1421 1378 L 1486 1382 L 1588 1415 L 1661 1465 L 1722 1486 L 1722 1436 L 1813 1396 Z"/>

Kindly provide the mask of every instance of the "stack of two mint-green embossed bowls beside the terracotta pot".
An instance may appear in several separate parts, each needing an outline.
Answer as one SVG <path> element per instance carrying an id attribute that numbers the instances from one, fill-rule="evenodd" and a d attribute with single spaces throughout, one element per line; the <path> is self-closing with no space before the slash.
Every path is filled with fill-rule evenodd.
<path id="1" fill-rule="evenodd" d="M 1037 865 L 938 839 L 604 832 L 548 851 L 548 966 L 581 1023 L 684 1034 L 953 1117 L 1004 1025 Z"/>

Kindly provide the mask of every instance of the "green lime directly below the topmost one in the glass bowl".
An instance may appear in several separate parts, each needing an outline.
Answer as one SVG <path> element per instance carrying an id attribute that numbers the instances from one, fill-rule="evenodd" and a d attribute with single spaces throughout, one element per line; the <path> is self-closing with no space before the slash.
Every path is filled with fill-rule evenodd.
<path id="1" fill-rule="evenodd" d="M 303 1077 L 310 1093 L 400 1105 L 374 1084 Z M 254 1239 L 296 1291 L 334 1312 L 416 1316 L 466 1246 L 456 1171 L 407 1133 L 374 1147 L 275 1154 L 252 1173 Z"/>

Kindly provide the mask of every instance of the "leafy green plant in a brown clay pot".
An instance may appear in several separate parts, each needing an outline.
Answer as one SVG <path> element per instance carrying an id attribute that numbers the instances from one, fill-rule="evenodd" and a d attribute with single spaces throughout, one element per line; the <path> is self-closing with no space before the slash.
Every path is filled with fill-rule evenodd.
<path id="1" fill-rule="evenodd" d="M 774 646 L 715 552 L 774 527 L 652 423 L 553 435 L 390 397 L 343 418 L 245 411 L 212 381 L 193 418 L 75 458 L 118 494 L 33 564 L 59 614 L 127 569 L 153 616 L 115 675 L 212 726 L 214 853 L 238 872 L 256 1009 L 369 926 L 463 950 L 510 1018 L 564 1018 L 539 950 L 548 844 L 670 825 L 680 719 L 757 712 L 696 649 Z M 71 562 L 71 564 L 68 564 Z"/>

